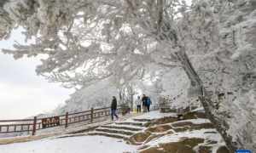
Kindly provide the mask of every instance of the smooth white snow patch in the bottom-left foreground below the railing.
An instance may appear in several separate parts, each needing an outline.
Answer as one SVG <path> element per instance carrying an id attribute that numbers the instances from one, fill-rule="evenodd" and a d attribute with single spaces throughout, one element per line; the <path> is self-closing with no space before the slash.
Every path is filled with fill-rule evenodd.
<path id="1" fill-rule="evenodd" d="M 102 136 L 42 139 L 26 143 L 0 145 L 0 153 L 122 153 L 137 152 L 137 146 L 121 139 Z"/>

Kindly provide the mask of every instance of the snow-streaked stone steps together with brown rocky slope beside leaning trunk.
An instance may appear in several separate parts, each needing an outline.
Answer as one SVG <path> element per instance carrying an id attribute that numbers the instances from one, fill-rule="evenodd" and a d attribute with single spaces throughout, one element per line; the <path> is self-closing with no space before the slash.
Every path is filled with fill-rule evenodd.
<path id="1" fill-rule="evenodd" d="M 229 153 L 204 111 L 183 116 L 153 111 L 97 127 L 88 135 L 125 139 L 141 153 Z"/>

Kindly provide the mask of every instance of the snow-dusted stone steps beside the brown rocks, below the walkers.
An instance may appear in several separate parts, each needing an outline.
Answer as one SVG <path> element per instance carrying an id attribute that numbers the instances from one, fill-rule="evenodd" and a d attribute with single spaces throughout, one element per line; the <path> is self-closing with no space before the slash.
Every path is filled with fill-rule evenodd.
<path id="1" fill-rule="evenodd" d="M 103 135 L 117 139 L 129 139 L 132 135 L 143 131 L 151 120 L 148 119 L 128 119 L 126 121 L 116 121 L 111 124 L 97 127 L 88 135 Z"/>

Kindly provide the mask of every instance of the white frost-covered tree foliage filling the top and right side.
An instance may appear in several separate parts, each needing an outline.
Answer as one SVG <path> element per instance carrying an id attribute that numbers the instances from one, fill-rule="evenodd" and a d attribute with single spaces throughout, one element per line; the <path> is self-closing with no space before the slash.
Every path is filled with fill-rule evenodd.
<path id="1" fill-rule="evenodd" d="M 230 149 L 255 149 L 255 8 L 253 0 L 10 0 L 0 8 L 0 37 L 23 26 L 35 43 L 3 52 L 47 54 L 38 74 L 67 88 L 109 77 L 123 85 L 148 66 L 180 66 Z"/>

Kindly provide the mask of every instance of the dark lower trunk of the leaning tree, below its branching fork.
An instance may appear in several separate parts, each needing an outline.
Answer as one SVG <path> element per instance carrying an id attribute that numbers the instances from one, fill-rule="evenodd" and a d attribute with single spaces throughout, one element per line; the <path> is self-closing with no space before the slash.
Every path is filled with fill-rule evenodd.
<path id="1" fill-rule="evenodd" d="M 206 111 L 207 117 L 212 122 L 212 124 L 216 126 L 218 133 L 222 135 L 225 143 L 230 149 L 230 152 L 235 152 L 237 147 L 232 143 L 231 137 L 226 133 L 226 129 L 224 128 L 227 124 L 226 122 L 219 119 L 216 115 L 214 115 L 214 107 L 211 104 L 211 100 L 207 99 L 207 96 L 205 95 L 206 91 L 203 87 L 203 83 L 201 82 L 201 78 L 196 73 L 193 65 L 189 61 L 189 57 L 185 53 L 184 48 L 181 48 L 180 52 L 177 52 L 177 58 L 182 62 L 183 70 L 188 75 L 192 88 L 197 88 L 198 97 Z"/>

